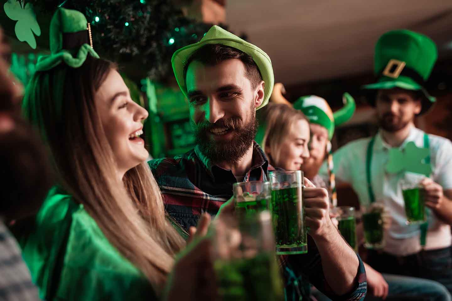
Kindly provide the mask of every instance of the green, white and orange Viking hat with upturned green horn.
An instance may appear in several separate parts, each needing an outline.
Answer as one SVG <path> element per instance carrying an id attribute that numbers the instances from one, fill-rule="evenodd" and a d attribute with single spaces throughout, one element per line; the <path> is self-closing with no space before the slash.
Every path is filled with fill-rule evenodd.
<path id="1" fill-rule="evenodd" d="M 356 109 L 355 100 L 350 94 L 344 93 L 342 100 L 344 107 L 334 113 L 324 98 L 315 95 L 298 98 L 293 107 L 302 111 L 309 122 L 325 127 L 328 130 L 328 139 L 331 140 L 334 128 L 352 118 Z"/>

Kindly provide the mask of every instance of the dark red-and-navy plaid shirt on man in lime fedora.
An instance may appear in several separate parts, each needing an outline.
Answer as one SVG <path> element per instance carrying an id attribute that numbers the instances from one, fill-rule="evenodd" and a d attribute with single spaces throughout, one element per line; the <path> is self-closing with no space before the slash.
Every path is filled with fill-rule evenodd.
<path id="1" fill-rule="evenodd" d="M 198 146 L 181 156 L 161 158 L 148 162 L 164 196 L 166 210 L 188 230 L 196 227 L 202 213 L 212 216 L 232 197 L 232 184 L 237 182 L 231 170 L 226 170 L 205 157 Z M 275 170 L 258 144 L 253 145 L 253 159 L 243 181 L 267 180 L 267 172 Z M 358 255 L 357 255 L 358 256 Z M 366 290 L 366 273 L 358 256 L 359 268 L 353 292 L 335 295 L 325 280 L 319 251 L 308 236 L 308 253 L 281 256 L 286 279 L 286 300 L 301 300 L 310 295 L 309 282 L 333 300 L 363 300 Z"/>

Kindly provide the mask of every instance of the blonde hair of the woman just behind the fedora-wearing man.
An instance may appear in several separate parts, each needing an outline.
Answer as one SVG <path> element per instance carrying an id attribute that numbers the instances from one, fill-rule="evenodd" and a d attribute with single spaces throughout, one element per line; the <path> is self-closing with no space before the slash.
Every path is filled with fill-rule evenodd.
<path id="1" fill-rule="evenodd" d="M 281 166 L 281 146 L 287 135 L 293 130 L 298 120 L 306 120 L 306 116 L 285 103 L 269 102 L 267 106 L 257 111 L 260 130 L 263 132 L 261 141 L 257 141 L 270 164 Z"/>

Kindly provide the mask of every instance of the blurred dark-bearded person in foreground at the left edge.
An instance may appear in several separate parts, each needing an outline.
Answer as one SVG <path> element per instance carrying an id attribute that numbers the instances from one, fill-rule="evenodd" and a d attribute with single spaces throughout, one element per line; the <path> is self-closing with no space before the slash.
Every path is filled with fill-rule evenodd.
<path id="1" fill-rule="evenodd" d="M 7 226 L 38 211 L 52 177 L 42 144 L 19 116 L 22 86 L 9 72 L 9 55 L 0 28 L 0 300 L 38 301 L 38 288 Z"/>

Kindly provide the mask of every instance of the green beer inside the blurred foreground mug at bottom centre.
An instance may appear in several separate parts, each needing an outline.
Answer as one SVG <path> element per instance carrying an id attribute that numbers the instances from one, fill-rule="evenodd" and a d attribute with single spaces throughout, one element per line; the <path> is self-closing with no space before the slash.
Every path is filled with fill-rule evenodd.
<path id="1" fill-rule="evenodd" d="M 254 258 L 219 259 L 214 269 L 222 301 L 284 300 L 278 263 L 269 253 Z"/>

